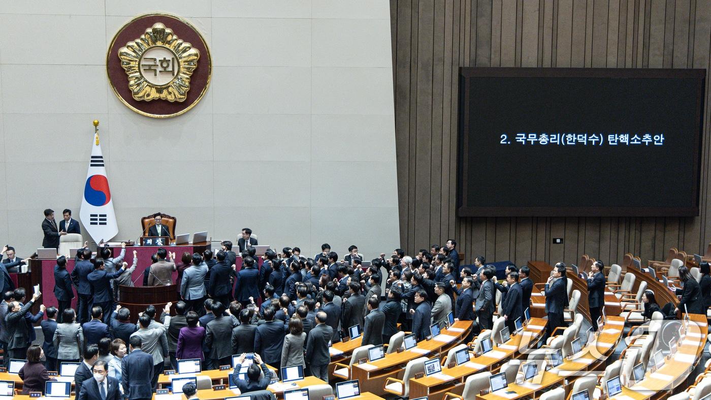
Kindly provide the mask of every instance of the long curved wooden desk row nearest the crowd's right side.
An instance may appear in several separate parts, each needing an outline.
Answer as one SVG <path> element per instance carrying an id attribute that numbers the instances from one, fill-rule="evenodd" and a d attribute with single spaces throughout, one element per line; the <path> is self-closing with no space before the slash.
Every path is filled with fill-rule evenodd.
<path id="1" fill-rule="evenodd" d="M 419 357 L 428 354 L 439 355 L 447 352 L 452 347 L 461 343 L 464 337 L 471 332 L 471 321 L 456 321 L 452 326 L 461 329 L 461 332 L 442 330 L 442 335 L 453 337 L 447 342 L 437 339 L 423 340 L 417 343 L 417 347 L 401 353 L 386 354 L 385 358 L 375 362 L 365 364 L 353 364 L 351 367 L 351 379 L 358 379 L 361 391 L 369 391 L 373 394 L 385 394 L 383 387 L 387 378 L 402 379 L 405 374 L 405 364 Z M 410 396 L 412 397 L 412 395 Z"/>

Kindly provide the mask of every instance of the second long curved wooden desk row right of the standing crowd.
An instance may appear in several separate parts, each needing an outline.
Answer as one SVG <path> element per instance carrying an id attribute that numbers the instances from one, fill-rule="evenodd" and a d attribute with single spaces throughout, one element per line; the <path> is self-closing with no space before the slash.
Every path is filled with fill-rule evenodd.
<path id="1" fill-rule="evenodd" d="M 526 329 L 520 335 L 512 336 L 506 344 L 493 347 L 491 352 L 474 357 L 467 364 L 443 368 L 442 374 L 451 379 L 442 380 L 436 377 L 410 379 L 410 398 L 427 397 L 429 400 L 439 400 L 447 391 L 461 394 L 464 391 L 464 381 L 469 375 L 483 370 L 497 370 L 498 364 L 520 357 L 520 354 L 525 353 L 527 349 L 535 348 L 543 332 L 545 332 L 545 320 L 532 318 Z M 447 363 L 449 364 L 449 360 Z"/>

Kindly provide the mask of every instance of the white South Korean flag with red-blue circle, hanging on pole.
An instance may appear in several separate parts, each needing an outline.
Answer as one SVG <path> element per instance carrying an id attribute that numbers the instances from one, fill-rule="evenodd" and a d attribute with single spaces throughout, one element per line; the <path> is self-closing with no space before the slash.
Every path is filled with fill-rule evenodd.
<path id="1" fill-rule="evenodd" d="M 84 197 L 79 217 L 84 227 L 96 243 L 109 241 L 119 233 L 114 214 L 114 202 L 106 177 L 104 156 L 99 144 L 99 132 L 94 136 L 89 159 L 87 181 L 84 184 Z"/>

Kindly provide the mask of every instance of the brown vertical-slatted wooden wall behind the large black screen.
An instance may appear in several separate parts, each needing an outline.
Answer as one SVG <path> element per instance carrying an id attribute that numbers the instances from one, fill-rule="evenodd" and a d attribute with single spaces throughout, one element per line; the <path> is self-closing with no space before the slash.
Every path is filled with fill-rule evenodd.
<path id="1" fill-rule="evenodd" d="M 455 238 L 466 263 L 481 254 L 517 265 L 577 263 L 583 253 L 620 263 L 628 252 L 650 260 L 663 259 L 670 247 L 705 251 L 711 241 L 708 88 L 700 216 L 459 218 L 457 80 L 461 66 L 707 69 L 711 1 L 391 0 L 390 7 L 402 248 L 415 253 Z"/>

